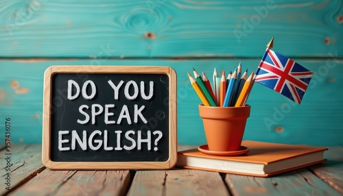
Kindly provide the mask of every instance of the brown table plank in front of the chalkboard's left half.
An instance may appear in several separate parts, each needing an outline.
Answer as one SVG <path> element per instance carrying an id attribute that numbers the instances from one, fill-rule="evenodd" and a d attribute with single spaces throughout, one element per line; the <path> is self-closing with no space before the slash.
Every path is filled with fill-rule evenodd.
<path id="1" fill-rule="evenodd" d="M 130 171 L 51 171 L 45 169 L 12 195 L 124 195 Z"/>

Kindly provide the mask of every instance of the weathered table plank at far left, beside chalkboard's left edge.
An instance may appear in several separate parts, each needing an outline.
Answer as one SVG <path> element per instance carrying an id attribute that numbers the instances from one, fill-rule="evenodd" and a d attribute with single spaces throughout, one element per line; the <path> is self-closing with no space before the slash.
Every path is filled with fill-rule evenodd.
<path id="1" fill-rule="evenodd" d="M 45 169 L 41 161 L 41 145 L 12 145 L 10 153 L 10 155 L 1 153 L 0 156 L 0 160 L 5 160 L 10 156 L 12 163 L 10 191 L 5 189 L 7 185 L 1 183 L 0 195 L 10 193 Z M 5 167 L 2 167 L 0 172 L 2 179 L 9 173 Z"/>

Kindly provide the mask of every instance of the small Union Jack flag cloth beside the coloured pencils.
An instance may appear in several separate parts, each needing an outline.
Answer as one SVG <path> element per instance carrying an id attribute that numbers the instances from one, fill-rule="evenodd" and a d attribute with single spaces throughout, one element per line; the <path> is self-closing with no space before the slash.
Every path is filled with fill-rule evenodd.
<path id="1" fill-rule="evenodd" d="M 267 49 L 254 80 L 300 104 L 312 75 L 300 64 Z"/>

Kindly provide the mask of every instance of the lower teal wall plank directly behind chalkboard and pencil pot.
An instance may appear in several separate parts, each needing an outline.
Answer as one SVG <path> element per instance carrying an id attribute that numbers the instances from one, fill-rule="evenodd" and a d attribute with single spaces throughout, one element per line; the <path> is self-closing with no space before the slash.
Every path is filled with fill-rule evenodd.
<path id="1" fill-rule="evenodd" d="M 279 93 L 255 84 L 248 103 L 252 106 L 244 139 L 307 145 L 342 145 L 343 104 L 340 89 L 343 82 L 343 60 L 294 59 L 314 71 L 314 77 L 303 102 L 298 105 Z M 109 60 L 98 59 L 102 65 L 166 65 L 178 75 L 178 142 L 189 145 L 206 143 L 198 99 L 187 72 L 191 67 L 212 75 L 217 70 L 233 70 L 242 62 L 243 69 L 255 71 L 260 59 L 207 60 Z M 43 73 L 48 66 L 90 65 L 93 60 L 0 60 L 0 110 L 2 117 L 12 117 L 12 140 L 16 143 L 40 143 L 42 134 Z M 10 84 L 19 82 L 27 93 L 16 93 Z M 309 137 L 311 134 L 311 137 Z M 0 134 L 0 139 L 4 134 Z M 192 139 L 189 139 L 192 138 Z"/>

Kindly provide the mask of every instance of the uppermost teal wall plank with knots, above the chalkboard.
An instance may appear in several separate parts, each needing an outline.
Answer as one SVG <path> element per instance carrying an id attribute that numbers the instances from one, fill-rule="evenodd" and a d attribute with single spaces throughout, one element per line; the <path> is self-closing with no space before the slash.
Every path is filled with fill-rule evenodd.
<path id="1" fill-rule="evenodd" d="M 1 1 L 1 57 L 343 56 L 342 1 Z M 104 52 L 105 51 L 105 52 Z"/>

